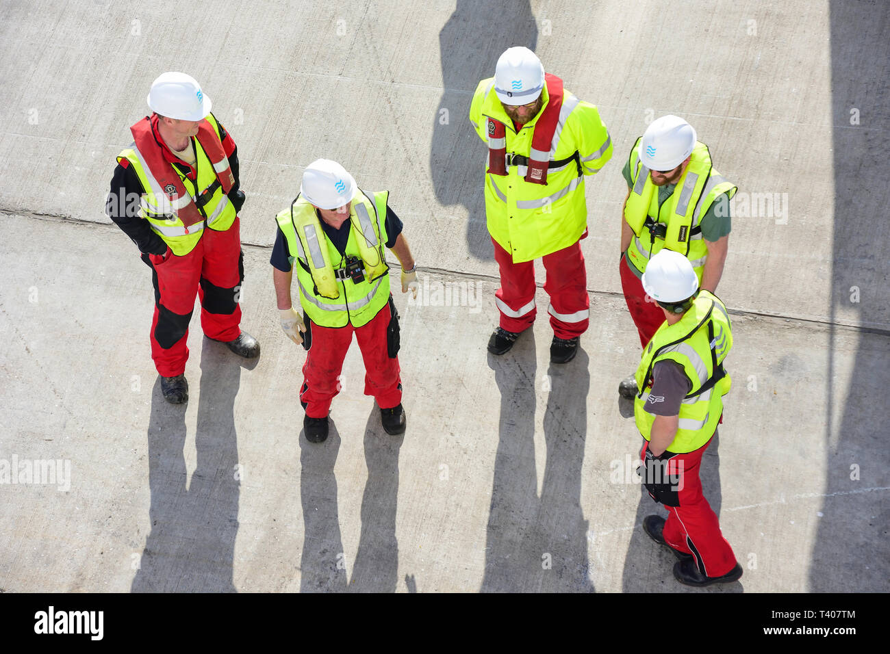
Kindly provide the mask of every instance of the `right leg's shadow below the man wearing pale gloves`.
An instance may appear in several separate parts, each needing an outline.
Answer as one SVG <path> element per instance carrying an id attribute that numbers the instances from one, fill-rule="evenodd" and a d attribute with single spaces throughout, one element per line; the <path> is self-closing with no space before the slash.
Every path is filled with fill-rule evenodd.
<path id="1" fill-rule="evenodd" d="M 405 435 L 390 436 L 374 406 L 365 424 L 368 482 L 361 497 L 361 535 L 349 590 L 394 593 L 398 583 L 399 542 L 395 515 L 399 497 L 399 451 Z"/>

